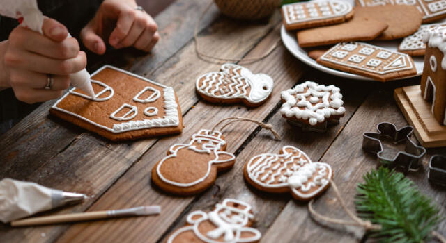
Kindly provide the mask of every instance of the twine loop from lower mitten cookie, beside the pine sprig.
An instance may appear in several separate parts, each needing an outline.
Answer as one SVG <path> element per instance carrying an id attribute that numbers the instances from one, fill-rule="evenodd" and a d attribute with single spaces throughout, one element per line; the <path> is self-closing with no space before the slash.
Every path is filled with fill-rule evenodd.
<path id="1" fill-rule="evenodd" d="M 330 183 L 334 189 L 334 193 L 336 194 L 337 199 L 341 203 L 342 208 L 344 208 L 344 211 L 347 213 L 347 215 L 349 217 L 351 217 L 351 219 L 353 219 L 354 222 L 353 221 L 345 221 L 345 220 L 341 220 L 341 219 L 332 219 L 330 217 L 325 217 L 323 215 L 318 214 L 318 212 L 316 212 L 313 209 L 312 204 L 313 204 L 314 199 L 312 199 L 312 201 L 309 201 L 309 203 L 308 203 L 308 210 L 314 217 L 317 217 L 318 219 L 322 219 L 323 221 L 328 221 L 332 224 L 361 226 L 361 227 L 364 227 L 366 230 L 379 230 L 381 228 L 381 226 L 379 224 L 371 224 L 371 221 L 362 220 L 359 217 L 357 217 L 353 212 L 351 212 L 351 210 L 349 210 L 347 208 L 346 203 L 344 202 L 344 199 L 342 199 L 342 196 L 339 193 L 339 190 L 337 189 L 336 183 L 334 183 L 334 181 L 332 179 L 330 179 Z"/>

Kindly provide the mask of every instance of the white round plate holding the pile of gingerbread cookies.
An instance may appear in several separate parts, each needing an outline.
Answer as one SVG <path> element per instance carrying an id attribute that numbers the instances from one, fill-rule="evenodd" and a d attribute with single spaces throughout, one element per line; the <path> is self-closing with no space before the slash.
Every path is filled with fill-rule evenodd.
<path id="1" fill-rule="evenodd" d="M 296 31 L 286 31 L 285 26 L 282 24 L 282 28 L 280 30 L 280 36 L 282 37 L 282 42 L 284 42 L 284 45 L 286 49 L 288 49 L 293 56 L 301 60 L 302 62 L 305 62 L 307 65 L 314 67 L 315 69 L 321 70 L 322 72 L 326 72 L 328 74 L 332 74 L 335 76 L 340 76 L 343 78 L 352 78 L 352 79 L 359 79 L 359 80 L 374 80 L 372 78 L 360 76 L 357 74 L 351 74 L 347 72 L 338 71 L 336 69 L 331 69 L 329 67 L 325 67 L 323 65 L 320 65 L 316 62 L 316 60 L 313 60 L 310 58 L 307 54 L 307 51 L 305 49 L 302 49 L 299 47 L 298 39 L 295 36 Z M 401 40 L 392 40 L 392 41 L 373 41 L 368 42 L 370 44 L 374 44 L 378 47 L 383 47 L 385 49 L 389 49 L 390 51 L 398 51 L 398 46 Z M 417 68 L 417 75 L 420 76 L 423 72 L 423 65 L 424 65 L 424 56 L 417 56 L 412 57 L 413 62 L 415 62 L 415 67 Z M 410 77 L 404 77 L 404 78 L 410 78 Z"/>

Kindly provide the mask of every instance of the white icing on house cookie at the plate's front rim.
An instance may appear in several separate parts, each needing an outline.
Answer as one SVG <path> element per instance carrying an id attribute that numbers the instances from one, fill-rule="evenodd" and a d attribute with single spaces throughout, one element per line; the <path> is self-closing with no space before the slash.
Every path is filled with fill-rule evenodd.
<path id="1" fill-rule="evenodd" d="M 366 72 L 371 72 L 371 73 L 376 73 L 376 74 L 387 74 L 387 73 L 390 73 L 390 72 L 399 72 L 399 71 L 408 70 L 408 69 L 412 69 L 413 68 L 413 63 L 410 61 L 411 58 L 406 53 L 401 53 L 401 52 L 397 52 L 397 51 L 389 51 L 389 50 L 382 49 L 380 47 L 376 47 L 376 46 L 373 46 L 371 44 L 365 44 L 365 43 L 362 43 L 362 42 L 353 42 L 353 43 L 357 43 L 358 47 L 366 46 L 366 47 L 370 47 L 371 49 L 379 50 L 378 54 L 376 54 L 376 57 L 378 57 L 378 58 L 380 58 L 380 56 L 378 56 L 378 55 L 380 55 L 379 53 L 381 51 L 387 51 L 387 52 L 391 53 L 391 55 L 392 54 L 398 55 L 399 57 L 395 58 L 395 60 L 393 62 L 395 62 L 399 58 L 403 58 L 403 62 L 406 63 L 406 64 L 408 63 L 409 65 L 405 66 L 405 67 L 397 68 L 397 69 L 390 69 L 390 68 L 386 69 L 387 66 L 389 66 L 390 64 L 393 63 L 393 62 L 391 62 L 389 65 L 386 65 L 385 68 L 383 68 L 383 71 L 380 72 L 380 71 L 378 71 L 377 68 L 367 69 L 367 68 L 365 68 L 365 65 L 361 66 L 359 63 L 356 64 L 356 65 L 353 65 L 353 64 L 349 64 L 347 62 L 347 60 L 345 60 L 345 61 L 344 60 L 335 60 L 334 58 L 330 58 L 329 57 L 329 56 L 332 56 L 331 55 L 332 51 L 334 51 L 334 50 L 338 49 L 339 47 L 343 46 L 344 44 L 346 44 L 346 42 L 338 43 L 334 47 L 332 47 L 330 50 L 326 51 L 321 56 L 321 60 L 325 60 L 327 62 L 336 63 L 338 65 L 345 66 L 345 67 L 352 67 L 354 69 L 361 69 L 361 70 L 364 70 Z M 356 54 L 354 54 L 354 55 L 356 55 Z"/>

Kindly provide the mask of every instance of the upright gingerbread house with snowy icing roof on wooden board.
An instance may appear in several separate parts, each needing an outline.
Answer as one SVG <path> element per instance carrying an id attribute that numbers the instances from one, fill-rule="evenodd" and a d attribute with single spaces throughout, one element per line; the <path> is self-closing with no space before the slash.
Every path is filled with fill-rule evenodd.
<path id="1" fill-rule="evenodd" d="M 431 112 L 439 124 L 446 126 L 446 27 L 424 34 L 426 44 L 421 94 L 432 103 Z"/>

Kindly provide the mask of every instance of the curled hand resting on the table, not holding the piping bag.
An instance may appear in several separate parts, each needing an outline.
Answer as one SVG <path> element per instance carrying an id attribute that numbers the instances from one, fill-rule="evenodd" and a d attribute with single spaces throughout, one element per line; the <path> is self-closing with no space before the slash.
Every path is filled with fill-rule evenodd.
<path id="1" fill-rule="evenodd" d="M 85 47 L 97 54 L 105 53 L 104 40 L 116 49 L 134 47 L 151 51 L 160 34 L 157 24 L 144 11 L 135 10 L 134 0 L 105 0 L 95 17 L 81 31 Z"/>

